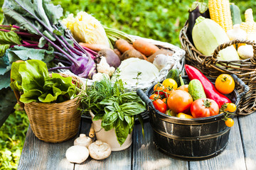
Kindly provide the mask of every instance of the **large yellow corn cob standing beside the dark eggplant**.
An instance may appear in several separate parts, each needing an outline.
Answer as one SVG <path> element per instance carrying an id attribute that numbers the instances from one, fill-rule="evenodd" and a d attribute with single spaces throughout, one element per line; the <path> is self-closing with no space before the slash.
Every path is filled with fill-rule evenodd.
<path id="1" fill-rule="evenodd" d="M 210 19 L 218 23 L 225 32 L 233 28 L 228 0 L 209 0 Z"/>

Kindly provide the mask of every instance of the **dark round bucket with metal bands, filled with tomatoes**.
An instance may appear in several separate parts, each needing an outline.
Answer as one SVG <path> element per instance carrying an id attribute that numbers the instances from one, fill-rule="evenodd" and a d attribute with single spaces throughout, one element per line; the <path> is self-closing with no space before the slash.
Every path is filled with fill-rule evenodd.
<path id="1" fill-rule="evenodd" d="M 183 77 L 188 80 L 188 77 Z M 214 82 L 214 79 L 210 79 Z M 246 85 L 235 79 L 244 89 Z M 149 121 L 153 128 L 154 144 L 162 152 L 177 159 L 198 161 L 215 157 L 228 145 L 230 128 L 225 125 L 224 113 L 207 118 L 184 119 L 169 116 L 153 106 L 149 96 L 154 91 L 154 85 L 144 94 L 138 90 L 137 94 L 146 102 L 149 111 Z M 228 98 L 238 106 L 241 95 L 234 90 Z M 233 118 L 234 115 L 231 116 Z"/>

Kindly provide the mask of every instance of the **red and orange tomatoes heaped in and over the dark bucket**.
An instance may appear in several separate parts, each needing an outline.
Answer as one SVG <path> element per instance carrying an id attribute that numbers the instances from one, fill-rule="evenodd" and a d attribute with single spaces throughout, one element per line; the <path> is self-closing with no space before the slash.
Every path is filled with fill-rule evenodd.
<path id="1" fill-rule="evenodd" d="M 231 93 L 235 82 L 228 74 L 221 74 L 215 81 L 215 87 L 223 94 Z M 188 85 L 178 86 L 174 79 L 165 79 L 163 83 L 154 86 L 154 92 L 149 97 L 156 110 L 178 118 L 203 118 L 219 113 L 233 113 L 234 103 L 225 103 L 225 108 L 219 108 L 218 103 L 210 98 L 199 98 L 193 101 L 188 93 Z M 233 119 L 226 118 L 225 124 L 233 126 Z"/>

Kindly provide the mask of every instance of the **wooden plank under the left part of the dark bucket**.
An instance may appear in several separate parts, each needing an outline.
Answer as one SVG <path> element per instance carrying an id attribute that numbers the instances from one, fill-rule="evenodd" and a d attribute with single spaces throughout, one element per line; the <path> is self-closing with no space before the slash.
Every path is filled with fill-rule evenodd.
<path id="1" fill-rule="evenodd" d="M 144 123 L 144 134 L 145 137 L 142 135 L 141 125 L 135 125 L 132 169 L 188 169 L 188 162 L 172 159 L 156 149 L 149 122 Z"/>

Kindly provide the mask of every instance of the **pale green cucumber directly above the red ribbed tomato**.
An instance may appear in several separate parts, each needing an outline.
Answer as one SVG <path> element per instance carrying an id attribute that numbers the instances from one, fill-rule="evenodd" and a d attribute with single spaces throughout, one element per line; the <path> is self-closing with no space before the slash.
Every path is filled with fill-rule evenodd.
<path id="1" fill-rule="evenodd" d="M 188 93 L 191 94 L 193 101 L 196 101 L 199 98 L 206 98 L 203 85 L 198 79 L 193 79 L 189 82 Z"/>

